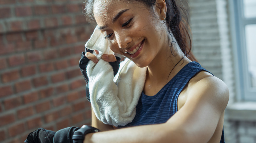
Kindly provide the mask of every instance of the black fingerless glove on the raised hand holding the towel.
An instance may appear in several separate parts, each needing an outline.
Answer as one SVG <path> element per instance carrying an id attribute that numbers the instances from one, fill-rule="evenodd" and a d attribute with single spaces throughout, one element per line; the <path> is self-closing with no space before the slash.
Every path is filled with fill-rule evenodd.
<path id="1" fill-rule="evenodd" d="M 86 52 L 93 53 L 93 50 L 87 49 Z M 79 68 L 80 68 L 80 71 L 81 71 L 81 73 L 84 77 L 84 80 L 86 82 L 86 98 L 90 102 L 90 94 L 89 94 L 89 87 L 88 87 L 89 78 L 88 78 L 87 72 L 86 72 L 86 66 L 89 62 L 89 59 L 84 55 L 85 55 L 85 52 L 82 52 L 81 59 L 79 60 Z M 117 58 L 117 61 L 109 62 L 109 64 L 113 68 L 114 76 L 117 74 L 117 72 L 119 70 L 119 66 L 120 66 L 119 64 L 120 64 L 120 61 L 121 61 L 120 57 L 116 56 L 116 58 Z"/>

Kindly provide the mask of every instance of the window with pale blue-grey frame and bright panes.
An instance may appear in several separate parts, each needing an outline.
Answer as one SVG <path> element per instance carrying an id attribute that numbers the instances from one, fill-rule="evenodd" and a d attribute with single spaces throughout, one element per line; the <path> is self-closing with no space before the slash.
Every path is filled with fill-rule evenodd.
<path id="1" fill-rule="evenodd" d="M 231 1 L 231 0 L 230 0 Z M 256 101 L 256 0 L 232 0 L 233 45 L 237 50 L 241 100 Z"/>

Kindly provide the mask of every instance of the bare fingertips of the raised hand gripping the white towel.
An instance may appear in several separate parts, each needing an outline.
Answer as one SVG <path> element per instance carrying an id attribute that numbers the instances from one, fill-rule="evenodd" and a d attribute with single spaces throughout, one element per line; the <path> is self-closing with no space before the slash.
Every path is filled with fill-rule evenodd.
<path id="1" fill-rule="evenodd" d="M 94 52 L 98 55 L 99 54 L 99 51 L 97 50 L 94 50 Z M 92 60 L 94 63 L 98 63 L 98 59 L 95 55 L 93 55 L 92 53 L 90 52 L 86 52 L 85 55 L 88 59 Z M 115 55 L 107 55 L 107 54 L 103 54 L 101 56 L 101 58 L 104 60 L 104 61 L 107 61 L 107 62 L 114 62 L 114 61 L 117 61 L 116 59 L 116 56 Z"/>

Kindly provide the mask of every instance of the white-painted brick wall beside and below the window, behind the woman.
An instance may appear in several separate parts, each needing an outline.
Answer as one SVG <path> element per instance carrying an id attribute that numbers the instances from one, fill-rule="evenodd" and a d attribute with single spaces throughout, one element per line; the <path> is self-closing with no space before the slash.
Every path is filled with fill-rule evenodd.
<path id="1" fill-rule="evenodd" d="M 200 64 L 222 79 L 230 90 L 229 104 L 236 101 L 235 75 L 229 27 L 228 0 L 188 0 L 192 51 Z M 226 143 L 256 143 L 256 121 L 225 117 Z"/>

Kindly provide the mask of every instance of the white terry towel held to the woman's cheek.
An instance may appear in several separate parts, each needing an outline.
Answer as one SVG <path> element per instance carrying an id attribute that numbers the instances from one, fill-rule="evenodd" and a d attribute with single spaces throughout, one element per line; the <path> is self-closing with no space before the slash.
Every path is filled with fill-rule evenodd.
<path id="1" fill-rule="evenodd" d="M 89 77 L 89 92 L 96 117 L 105 124 L 124 126 L 136 114 L 136 105 L 144 87 L 147 68 L 139 68 L 126 58 L 120 63 L 115 76 L 112 66 L 101 59 L 102 54 L 114 54 L 108 41 L 96 26 L 91 38 L 85 44 L 91 50 L 98 50 L 98 63 L 91 60 L 86 67 Z"/>

